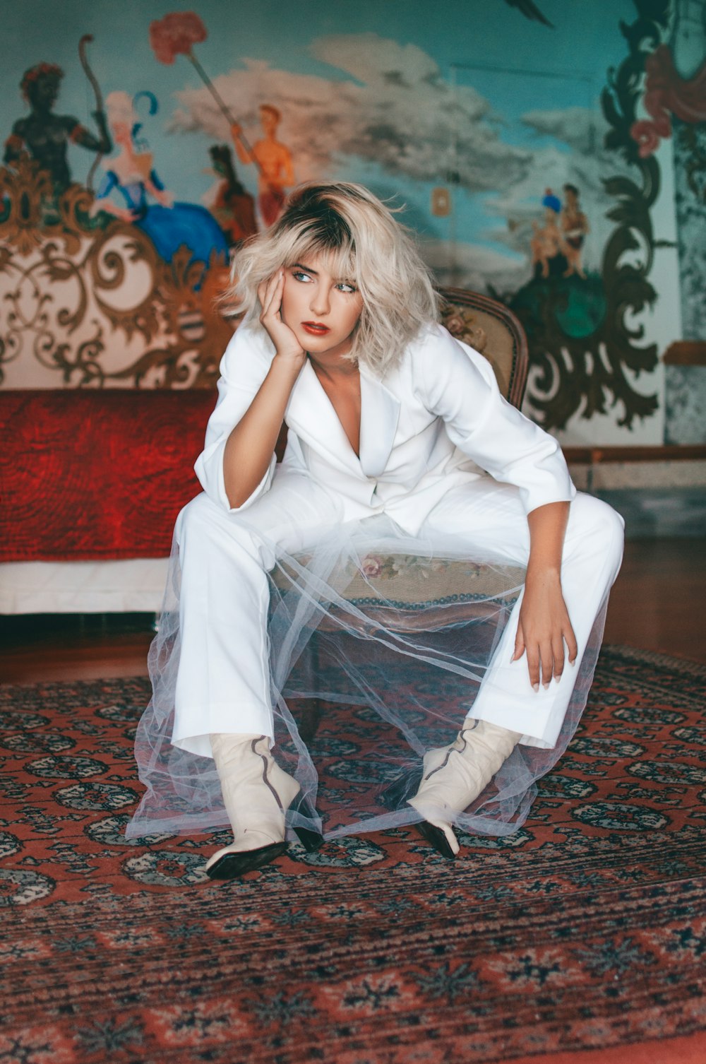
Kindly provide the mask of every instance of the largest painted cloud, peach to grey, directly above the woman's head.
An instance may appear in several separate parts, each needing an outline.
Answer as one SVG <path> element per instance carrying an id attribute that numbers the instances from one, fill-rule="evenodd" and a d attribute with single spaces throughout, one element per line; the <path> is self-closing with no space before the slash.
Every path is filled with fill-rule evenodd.
<path id="1" fill-rule="evenodd" d="M 364 33 L 320 37 L 312 52 L 350 77 L 329 80 L 245 60 L 245 69 L 215 79 L 246 129 L 257 124 L 260 103 L 283 110 L 300 180 L 340 176 L 347 157 L 354 157 L 376 163 L 391 176 L 437 182 L 453 165 L 454 140 L 465 161 L 460 181 L 469 192 L 509 188 L 530 167 L 531 153 L 499 138 L 488 101 L 471 87 L 454 93 L 434 60 L 415 45 Z M 205 88 L 176 96 L 181 106 L 171 129 L 228 136 Z"/>

